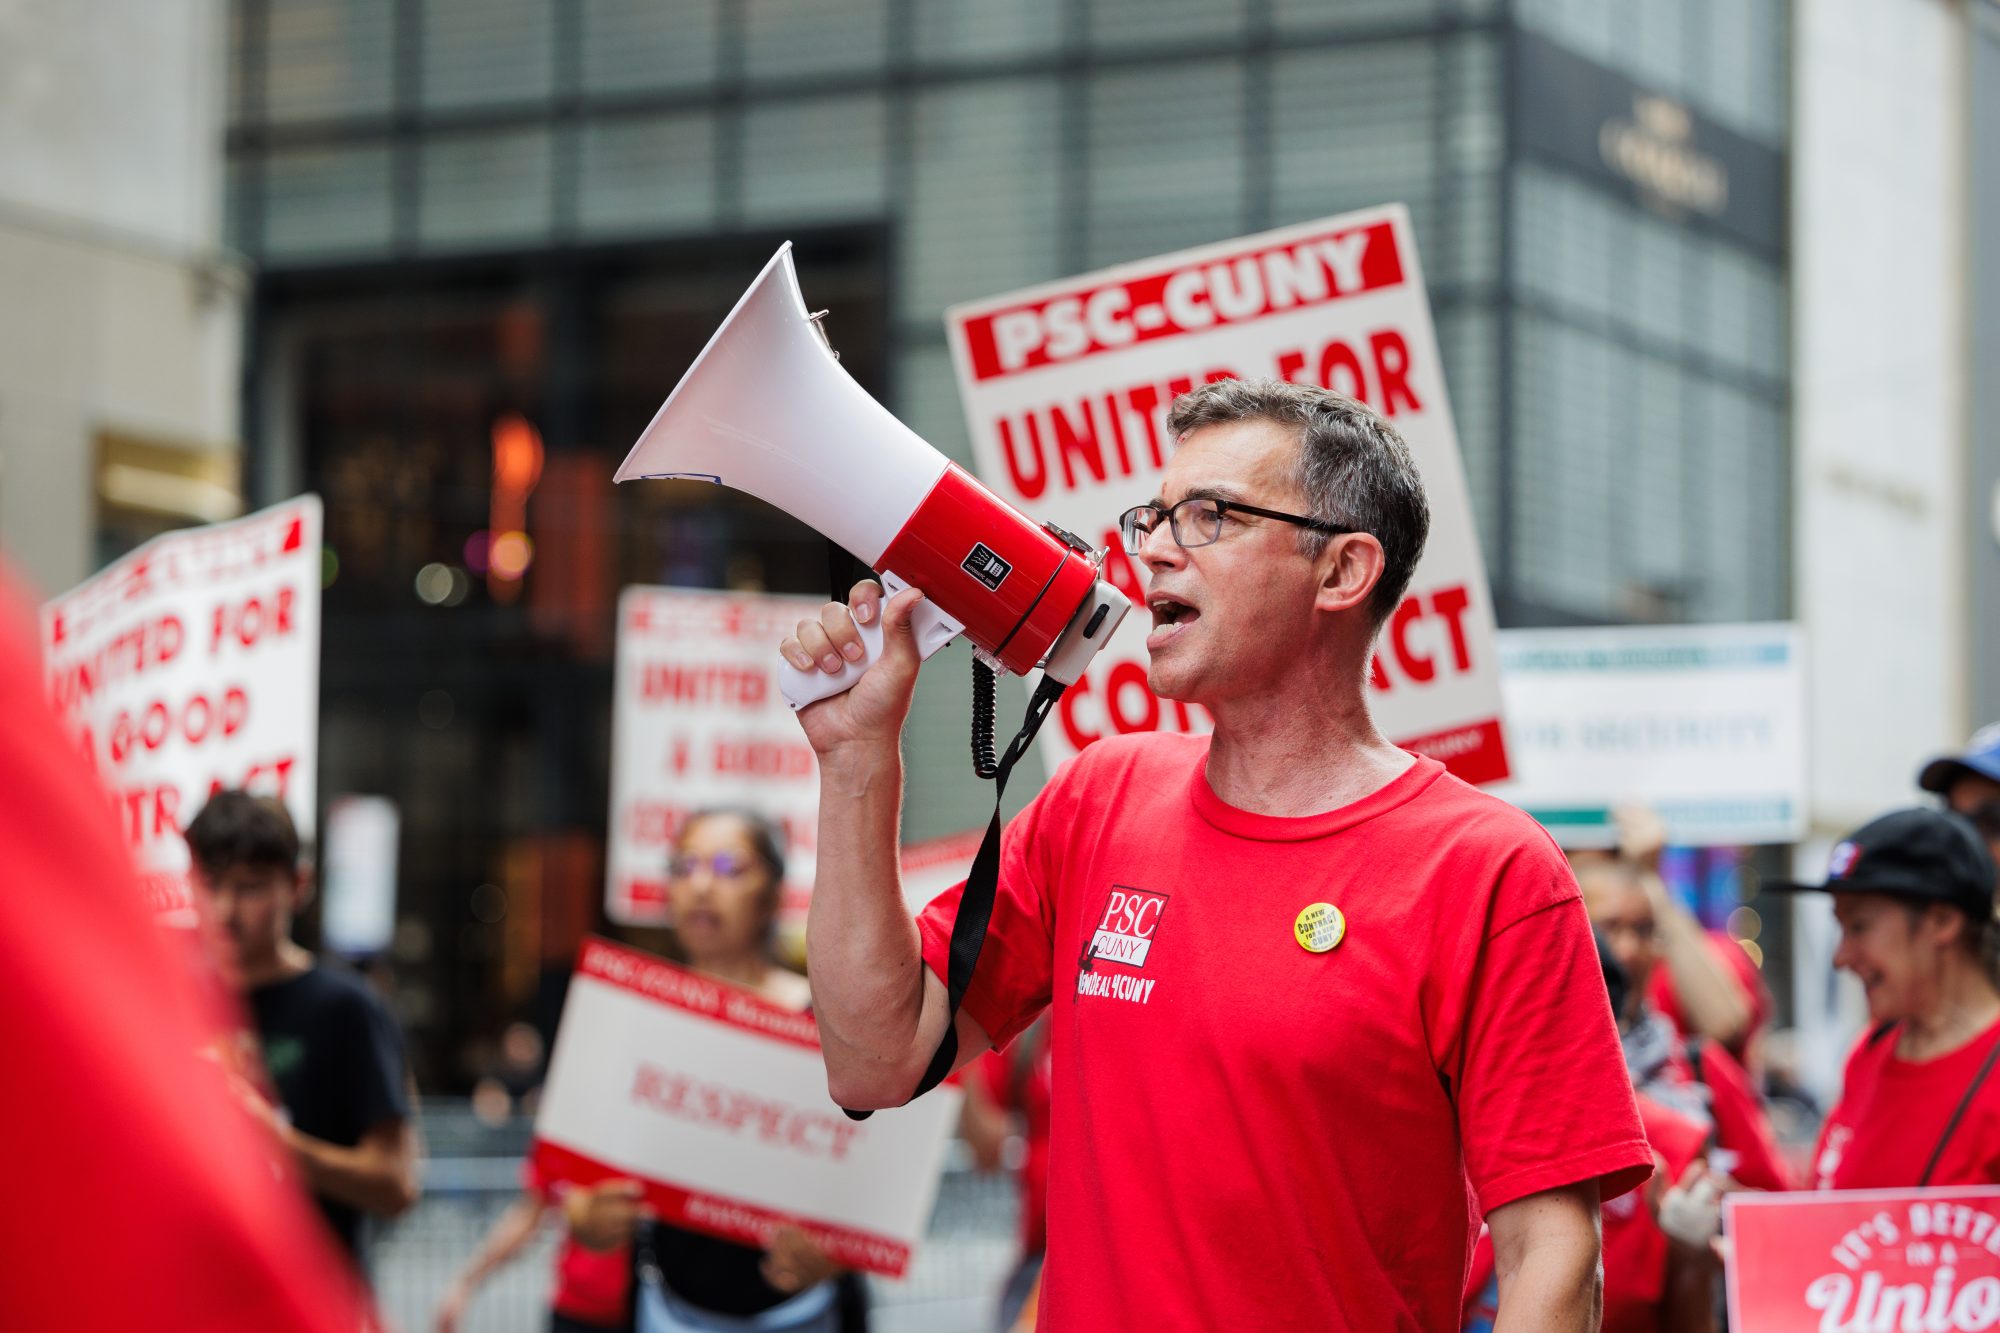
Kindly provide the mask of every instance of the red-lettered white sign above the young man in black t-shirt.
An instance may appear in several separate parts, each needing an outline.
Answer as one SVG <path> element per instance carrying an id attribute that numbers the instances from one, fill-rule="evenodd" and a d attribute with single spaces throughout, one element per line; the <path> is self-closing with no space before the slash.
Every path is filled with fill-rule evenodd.
<path id="1" fill-rule="evenodd" d="M 194 923 L 180 831 L 226 787 L 312 837 L 320 498 L 168 532 L 42 608 L 56 717 L 116 799 L 148 901 Z"/>

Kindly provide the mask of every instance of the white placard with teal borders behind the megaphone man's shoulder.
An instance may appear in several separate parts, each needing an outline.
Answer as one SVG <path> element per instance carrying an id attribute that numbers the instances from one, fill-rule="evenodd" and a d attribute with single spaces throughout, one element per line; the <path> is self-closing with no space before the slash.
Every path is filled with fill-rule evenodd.
<path id="1" fill-rule="evenodd" d="M 1502 630 L 1500 679 L 1516 781 L 1492 791 L 1564 847 L 1610 847 L 1624 803 L 1680 847 L 1804 837 L 1796 624 Z"/>

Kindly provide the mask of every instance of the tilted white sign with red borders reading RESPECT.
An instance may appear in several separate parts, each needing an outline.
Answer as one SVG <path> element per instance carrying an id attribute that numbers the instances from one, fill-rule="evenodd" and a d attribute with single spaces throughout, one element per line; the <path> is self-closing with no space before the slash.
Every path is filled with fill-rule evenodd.
<path id="1" fill-rule="evenodd" d="M 646 1185 L 658 1215 L 744 1245 L 804 1229 L 902 1277 L 930 1219 L 958 1091 L 850 1121 L 810 1015 L 584 941 L 534 1123 L 544 1179 Z"/>

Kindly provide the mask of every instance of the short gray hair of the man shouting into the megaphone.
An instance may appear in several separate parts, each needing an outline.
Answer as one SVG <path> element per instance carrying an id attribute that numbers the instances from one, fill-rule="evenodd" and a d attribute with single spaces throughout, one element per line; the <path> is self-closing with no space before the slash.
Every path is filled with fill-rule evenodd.
<path id="1" fill-rule="evenodd" d="M 1430 536 L 1430 502 L 1410 446 L 1368 404 L 1332 388 L 1290 380 L 1216 380 L 1174 398 L 1166 430 L 1176 440 L 1200 426 L 1268 420 L 1298 432 L 1298 488 L 1306 512 L 1382 542 L 1382 578 L 1368 596 L 1376 624 L 1402 602 Z M 1328 532 L 1298 530 L 1318 556 Z"/>

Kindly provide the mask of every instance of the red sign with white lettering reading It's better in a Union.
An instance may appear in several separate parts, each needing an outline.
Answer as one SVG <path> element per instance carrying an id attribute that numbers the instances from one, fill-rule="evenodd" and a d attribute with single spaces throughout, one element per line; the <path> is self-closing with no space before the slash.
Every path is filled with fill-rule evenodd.
<path id="1" fill-rule="evenodd" d="M 1738 1333 L 2000 1327 L 2000 1187 L 1730 1195 Z"/>

